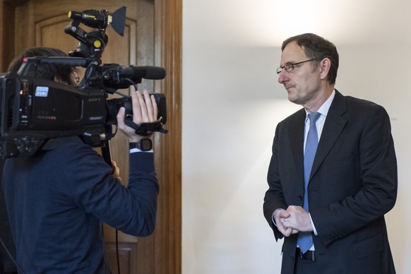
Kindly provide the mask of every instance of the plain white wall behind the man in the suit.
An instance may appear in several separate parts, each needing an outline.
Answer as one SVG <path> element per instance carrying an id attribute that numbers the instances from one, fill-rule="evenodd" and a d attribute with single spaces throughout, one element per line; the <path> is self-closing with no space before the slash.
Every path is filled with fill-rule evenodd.
<path id="1" fill-rule="evenodd" d="M 338 90 L 391 115 L 399 193 L 386 219 L 397 272 L 411 273 L 411 3 L 306 3 L 183 0 L 183 274 L 280 271 L 262 205 L 275 126 L 300 108 L 277 83 L 280 42 L 302 32 L 338 47 Z"/>

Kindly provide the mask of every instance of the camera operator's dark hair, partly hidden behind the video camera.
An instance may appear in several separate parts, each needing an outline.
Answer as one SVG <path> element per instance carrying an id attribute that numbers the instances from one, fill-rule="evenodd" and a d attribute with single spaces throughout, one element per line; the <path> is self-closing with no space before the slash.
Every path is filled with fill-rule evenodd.
<path id="1" fill-rule="evenodd" d="M 52 47 L 32 47 L 30 49 L 25 49 L 23 52 L 20 53 L 13 61 L 11 61 L 10 65 L 8 66 L 8 72 L 17 73 L 20 66 L 23 64 L 23 59 L 27 57 L 35 57 L 35 56 L 61 56 L 67 57 L 68 54 L 61 51 L 60 49 L 52 48 Z M 57 76 L 63 81 L 64 83 L 68 83 L 68 85 L 76 85 L 73 83 L 73 78 L 71 77 L 71 73 L 75 73 L 77 69 L 71 66 L 64 66 L 64 65 L 56 65 L 56 64 L 40 64 L 37 66 L 37 78 L 45 79 L 45 80 L 52 80 L 54 81 L 54 77 Z"/>

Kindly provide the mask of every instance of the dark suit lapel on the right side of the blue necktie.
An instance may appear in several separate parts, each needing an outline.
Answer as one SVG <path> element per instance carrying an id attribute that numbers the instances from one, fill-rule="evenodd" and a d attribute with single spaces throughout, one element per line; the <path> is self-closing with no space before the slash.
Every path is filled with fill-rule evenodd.
<path id="1" fill-rule="evenodd" d="M 321 133 L 321 138 L 318 143 L 316 156 L 314 158 L 313 167 L 311 168 L 310 180 L 316 174 L 323 160 L 328 155 L 328 152 L 333 147 L 338 136 L 347 124 L 347 120 L 342 117 L 342 114 L 347 111 L 345 97 L 335 90 L 335 97 L 328 110 L 327 118 Z"/>

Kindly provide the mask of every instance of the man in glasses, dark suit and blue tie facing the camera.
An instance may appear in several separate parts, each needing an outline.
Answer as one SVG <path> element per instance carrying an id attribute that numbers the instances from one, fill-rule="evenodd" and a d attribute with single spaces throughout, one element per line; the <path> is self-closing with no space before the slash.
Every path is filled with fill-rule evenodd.
<path id="1" fill-rule="evenodd" d="M 398 186 L 390 119 L 383 107 L 335 90 L 337 71 L 328 40 L 303 34 L 283 42 L 278 82 L 304 108 L 275 130 L 264 215 L 275 239 L 285 237 L 283 274 L 395 273 L 384 220 Z M 310 127 L 318 147 L 304 172 Z"/>

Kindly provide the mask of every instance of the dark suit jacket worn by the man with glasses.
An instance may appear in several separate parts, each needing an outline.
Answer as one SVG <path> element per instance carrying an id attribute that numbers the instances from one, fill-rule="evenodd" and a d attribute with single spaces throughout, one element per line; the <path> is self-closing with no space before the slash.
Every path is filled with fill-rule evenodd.
<path id="1" fill-rule="evenodd" d="M 264 215 L 304 199 L 304 109 L 275 131 Z M 309 181 L 309 212 L 323 273 L 395 273 L 384 214 L 397 196 L 397 162 L 383 107 L 338 91 L 328 111 Z M 282 274 L 293 273 L 298 234 L 282 246 Z"/>

